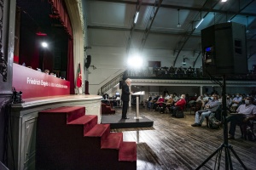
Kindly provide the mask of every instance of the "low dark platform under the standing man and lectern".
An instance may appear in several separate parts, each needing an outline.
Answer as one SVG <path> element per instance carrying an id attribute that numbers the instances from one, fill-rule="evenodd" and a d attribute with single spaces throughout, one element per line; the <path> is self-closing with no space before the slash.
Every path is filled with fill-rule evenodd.
<path id="1" fill-rule="evenodd" d="M 118 115 L 102 115 L 102 124 L 110 124 L 110 128 L 131 128 L 131 127 L 152 127 L 154 122 L 145 116 L 140 119 L 122 119 L 121 114 Z"/>

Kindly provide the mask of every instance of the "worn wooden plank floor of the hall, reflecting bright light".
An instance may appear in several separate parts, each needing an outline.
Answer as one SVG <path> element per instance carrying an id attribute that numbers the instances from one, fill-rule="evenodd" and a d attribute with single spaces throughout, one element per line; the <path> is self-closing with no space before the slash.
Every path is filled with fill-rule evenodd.
<path id="1" fill-rule="evenodd" d="M 134 117 L 136 109 L 131 107 L 127 116 Z M 113 132 L 123 132 L 125 141 L 137 142 L 137 170 L 151 169 L 195 169 L 200 166 L 218 147 L 223 144 L 223 129 L 210 129 L 206 121 L 202 127 L 191 127 L 195 115 L 186 111 L 185 118 L 173 118 L 169 114 L 158 111 L 147 111 L 140 108 L 140 116 L 146 116 L 154 121 L 153 127 L 119 128 Z M 116 109 L 121 114 L 121 109 Z M 247 169 L 256 169 L 256 142 L 240 139 L 239 127 L 236 128 L 235 140 L 229 140 L 236 154 L 246 165 Z M 214 169 L 214 165 L 225 169 L 224 150 L 221 161 L 215 161 L 216 156 L 207 161 L 201 169 Z M 234 169 L 243 169 L 239 161 L 232 154 L 231 161 Z M 216 167 L 217 169 L 217 167 Z"/>

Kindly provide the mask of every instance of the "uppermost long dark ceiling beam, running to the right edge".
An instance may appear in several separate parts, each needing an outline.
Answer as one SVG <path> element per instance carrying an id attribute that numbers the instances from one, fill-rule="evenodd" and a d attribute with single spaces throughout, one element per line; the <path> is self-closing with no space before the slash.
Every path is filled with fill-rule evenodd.
<path id="1" fill-rule="evenodd" d="M 132 1 L 119 1 L 119 0 L 90 0 L 90 1 L 102 1 L 102 2 L 108 2 L 108 3 L 125 3 L 125 4 L 133 4 L 136 5 L 137 2 L 132 2 Z M 154 3 L 142 3 L 143 6 L 153 6 Z M 195 7 L 184 7 L 180 5 L 170 5 L 170 4 L 161 4 L 161 8 L 176 8 L 176 9 L 182 9 L 182 10 L 192 10 L 192 11 L 201 11 L 201 12 L 213 12 L 213 13 L 219 13 L 219 14 L 236 14 L 237 11 L 225 11 L 225 10 L 219 10 L 219 9 L 213 9 L 213 8 L 195 8 Z M 256 14 L 252 13 L 239 13 L 240 15 L 245 15 L 245 16 L 256 16 Z"/>

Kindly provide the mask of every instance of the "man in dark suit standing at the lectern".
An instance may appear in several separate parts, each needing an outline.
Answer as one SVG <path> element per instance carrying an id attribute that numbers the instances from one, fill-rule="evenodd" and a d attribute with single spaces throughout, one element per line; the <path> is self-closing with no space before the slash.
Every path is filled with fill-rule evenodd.
<path id="1" fill-rule="evenodd" d="M 127 78 L 125 80 L 124 85 L 122 86 L 122 96 L 121 96 L 121 99 L 123 101 L 122 119 L 129 119 L 129 117 L 126 116 L 128 104 L 130 101 L 130 94 L 132 94 L 132 92 L 130 92 L 129 86 L 131 86 L 131 79 Z"/>

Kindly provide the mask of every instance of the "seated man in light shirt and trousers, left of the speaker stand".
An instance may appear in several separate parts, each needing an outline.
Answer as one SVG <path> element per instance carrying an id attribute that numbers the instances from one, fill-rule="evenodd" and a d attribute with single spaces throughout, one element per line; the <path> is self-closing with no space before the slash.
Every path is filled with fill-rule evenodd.
<path id="1" fill-rule="evenodd" d="M 212 94 L 211 100 L 207 102 L 207 105 L 205 105 L 205 110 L 202 111 L 196 111 L 195 112 L 195 123 L 192 124 L 192 127 L 201 127 L 202 122 L 204 122 L 206 116 L 210 116 L 210 114 L 213 111 L 218 110 L 219 106 L 218 102 L 218 96 L 217 94 Z"/>

